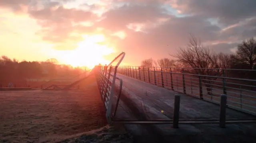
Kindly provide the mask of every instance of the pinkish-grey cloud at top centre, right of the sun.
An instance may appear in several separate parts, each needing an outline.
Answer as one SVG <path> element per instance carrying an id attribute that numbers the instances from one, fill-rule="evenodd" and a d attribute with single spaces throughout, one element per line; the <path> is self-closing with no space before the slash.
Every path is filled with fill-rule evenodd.
<path id="1" fill-rule="evenodd" d="M 154 23 L 159 18 L 167 18 L 168 15 L 163 14 L 164 11 L 159 6 L 125 4 L 104 13 L 104 19 L 96 25 L 110 30 L 122 30 L 126 29 L 128 24 Z"/>

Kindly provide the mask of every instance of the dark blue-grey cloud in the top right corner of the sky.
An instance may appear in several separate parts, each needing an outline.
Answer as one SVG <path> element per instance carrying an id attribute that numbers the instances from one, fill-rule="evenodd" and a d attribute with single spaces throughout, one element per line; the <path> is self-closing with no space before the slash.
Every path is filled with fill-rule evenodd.
<path id="1" fill-rule="evenodd" d="M 166 0 L 182 13 L 217 18 L 225 26 L 256 15 L 255 0 Z"/>

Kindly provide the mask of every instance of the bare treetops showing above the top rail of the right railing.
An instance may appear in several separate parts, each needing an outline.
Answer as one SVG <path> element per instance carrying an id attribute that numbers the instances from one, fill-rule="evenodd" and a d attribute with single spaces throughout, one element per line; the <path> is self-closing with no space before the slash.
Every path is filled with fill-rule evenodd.
<path id="1" fill-rule="evenodd" d="M 141 62 L 141 66 L 185 68 L 186 72 L 194 74 L 205 74 L 210 69 L 256 70 L 256 40 L 254 38 L 238 44 L 236 53 L 226 54 L 210 50 L 201 44 L 200 39 L 190 35 L 186 48 L 179 48 L 176 54 L 169 55 L 173 59 L 163 58 L 156 61 L 152 58 L 145 59 Z"/>

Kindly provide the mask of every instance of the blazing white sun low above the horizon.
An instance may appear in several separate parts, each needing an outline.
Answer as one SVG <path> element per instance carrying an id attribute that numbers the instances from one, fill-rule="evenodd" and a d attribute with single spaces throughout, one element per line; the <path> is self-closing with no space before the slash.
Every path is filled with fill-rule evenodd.
<path id="1" fill-rule="evenodd" d="M 86 66 L 92 69 L 99 63 L 102 65 L 110 63 L 104 59 L 104 55 L 114 53 L 113 47 L 100 44 L 105 41 L 104 35 L 84 35 L 84 41 L 78 43 L 74 50 L 60 51 L 60 59 L 73 67 Z"/>

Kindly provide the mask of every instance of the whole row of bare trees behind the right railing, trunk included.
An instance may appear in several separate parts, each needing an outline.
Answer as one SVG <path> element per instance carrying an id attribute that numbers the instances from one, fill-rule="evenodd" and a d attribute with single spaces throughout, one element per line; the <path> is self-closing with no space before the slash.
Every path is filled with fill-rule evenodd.
<path id="1" fill-rule="evenodd" d="M 234 54 L 226 54 L 210 50 L 202 45 L 200 39 L 190 35 L 189 43 L 185 48 L 179 48 L 176 54 L 169 55 L 173 59 L 163 58 L 156 61 L 152 58 L 145 59 L 141 62 L 141 67 L 162 67 L 163 72 L 170 72 L 172 68 L 175 72 L 188 73 L 197 78 L 199 75 L 206 75 L 200 78 L 208 94 L 211 94 L 212 85 L 220 76 L 256 79 L 256 40 L 254 38 L 238 44 Z M 243 84 L 254 86 L 255 82 Z"/>

